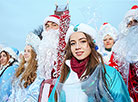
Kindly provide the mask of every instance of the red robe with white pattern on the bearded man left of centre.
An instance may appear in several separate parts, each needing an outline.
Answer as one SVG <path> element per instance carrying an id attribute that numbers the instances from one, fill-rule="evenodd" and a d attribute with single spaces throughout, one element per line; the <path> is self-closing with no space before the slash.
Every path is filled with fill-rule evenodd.
<path id="1" fill-rule="evenodd" d="M 70 15 L 69 15 L 69 11 L 66 10 L 64 11 L 64 13 L 60 16 L 60 26 L 59 26 L 59 42 L 58 42 L 58 46 L 57 46 L 57 62 L 54 62 L 55 65 L 57 65 L 57 69 L 52 69 L 51 72 L 51 80 L 56 79 L 59 75 L 60 75 L 60 68 L 64 59 L 64 48 L 65 48 L 65 36 L 66 36 L 66 32 L 69 28 L 69 23 L 70 23 Z M 56 73 L 55 73 L 56 72 Z M 43 82 L 41 83 L 41 88 L 40 88 L 40 93 L 39 93 L 39 100 L 38 102 L 41 102 L 41 97 L 42 97 L 42 93 L 43 93 L 43 88 L 44 88 L 44 84 L 47 83 L 46 80 L 43 80 Z M 52 89 L 53 89 L 54 85 L 51 84 L 50 85 L 50 91 L 49 91 L 49 95 L 50 96 Z"/>

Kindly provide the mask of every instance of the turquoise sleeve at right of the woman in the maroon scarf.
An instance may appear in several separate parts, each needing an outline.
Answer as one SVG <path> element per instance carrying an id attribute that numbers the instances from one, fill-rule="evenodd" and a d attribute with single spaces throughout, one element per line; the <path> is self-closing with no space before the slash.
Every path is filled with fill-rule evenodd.
<path id="1" fill-rule="evenodd" d="M 122 76 L 116 69 L 109 73 L 108 82 L 110 84 L 109 91 L 115 102 L 130 102 L 128 89 Z"/>

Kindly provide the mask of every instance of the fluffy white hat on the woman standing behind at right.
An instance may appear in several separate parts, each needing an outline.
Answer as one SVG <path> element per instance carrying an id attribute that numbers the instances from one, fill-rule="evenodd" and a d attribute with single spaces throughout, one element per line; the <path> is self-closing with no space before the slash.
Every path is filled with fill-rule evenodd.
<path id="1" fill-rule="evenodd" d="M 104 23 L 99 30 L 99 36 L 103 40 L 107 34 L 109 34 L 114 39 L 114 41 L 118 40 L 118 32 L 116 28 L 109 23 Z"/>

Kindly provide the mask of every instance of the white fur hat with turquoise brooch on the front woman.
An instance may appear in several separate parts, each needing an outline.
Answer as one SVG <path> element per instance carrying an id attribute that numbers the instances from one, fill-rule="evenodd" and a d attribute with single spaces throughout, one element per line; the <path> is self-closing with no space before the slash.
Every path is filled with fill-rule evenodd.
<path id="1" fill-rule="evenodd" d="M 78 24 L 76 26 L 70 26 L 68 31 L 67 31 L 67 34 L 66 34 L 66 37 L 65 37 L 65 41 L 66 43 L 68 42 L 69 40 L 69 37 L 70 35 L 72 35 L 72 33 L 74 32 L 84 32 L 86 34 L 89 34 L 93 39 L 96 38 L 96 31 L 94 28 L 92 28 L 91 26 L 87 25 L 87 24 Z"/>

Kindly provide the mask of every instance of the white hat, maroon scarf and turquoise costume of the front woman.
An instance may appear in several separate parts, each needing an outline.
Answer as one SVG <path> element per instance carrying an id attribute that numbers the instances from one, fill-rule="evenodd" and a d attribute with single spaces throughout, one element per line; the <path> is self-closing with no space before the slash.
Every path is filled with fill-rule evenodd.
<path id="1" fill-rule="evenodd" d="M 66 35 L 66 42 L 74 32 L 84 32 L 90 34 L 92 38 L 96 33 L 93 28 L 85 24 L 71 26 Z M 67 77 L 64 83 L 59 82 L 61 76 L 58 78 L 48 102 L 55 102 L 55 99 L 57 102 L 130 102 L 127 87 L 115 68 L 105 65 L 105 70 L 100 63 L 91 70 L 90 74 L 83 77 L 87 73 L 86 63 L 89 60 L 90 57 L 87 57 L 79 63 L 75 57 L 72 57 L 65 61 L 69 68 Z"/>

